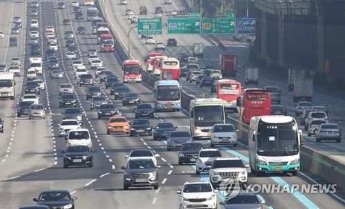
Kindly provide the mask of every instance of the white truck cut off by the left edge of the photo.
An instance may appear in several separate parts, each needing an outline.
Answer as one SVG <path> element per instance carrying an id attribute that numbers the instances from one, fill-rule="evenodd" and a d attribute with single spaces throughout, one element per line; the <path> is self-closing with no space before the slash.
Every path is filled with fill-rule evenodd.
<path id="1" fill-rule="evenodd" d="M 14 99 L 14 81 L 13 72 L 0 72 L 0 98 Z"/>

